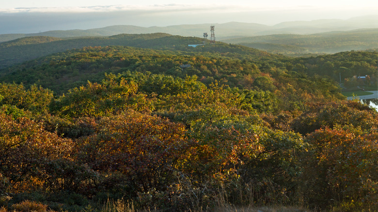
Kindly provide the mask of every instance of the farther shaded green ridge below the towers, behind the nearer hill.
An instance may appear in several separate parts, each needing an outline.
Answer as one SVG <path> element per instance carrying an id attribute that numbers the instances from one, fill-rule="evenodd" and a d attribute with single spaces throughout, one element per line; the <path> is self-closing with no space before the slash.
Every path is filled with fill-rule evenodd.
<path id="1" fill-rule="evenodd" d="M 196 37 L 181 37 L 166 33 L 154 34 L 120 34 L 110 37 L 80 37 L 71 39 L 59 39 L 54 37 L 28 37 L 5 42 L 0 45 L 0 69 L 13 64 L 36 59 L 49 54 L 63 52 L 69 49 L 85 46 L 110 46 L 123 45 L 160 50 L 179 50 L 196 53 L 224 53 L 223 56 L 232 54 L 244 55 L 246 58 L 259 58 L 271 56 L 268 53 L 244 46 L 205 45 L 197 48 L 189 47 L 189 44 L 204 44 L 204 39 Z M 227 53 L 227 54 L 226 54 Z"/>

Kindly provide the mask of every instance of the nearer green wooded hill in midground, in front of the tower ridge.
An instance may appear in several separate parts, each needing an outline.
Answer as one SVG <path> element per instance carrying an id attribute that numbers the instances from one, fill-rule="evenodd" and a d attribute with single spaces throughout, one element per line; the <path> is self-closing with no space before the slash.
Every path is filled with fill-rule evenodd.
<path id="1" fill-rule="evenodd" d="M 119 36 L 133 37 L 133 35 Z M 173 37 L 179 38 L 178 36 Z M 188 39 L 190 40 L 190 38 Z M 158 44 L 164 41 L 158 40 Z M 138 44 L 140 43 L 138 42 Z M 251 75 L 258 69 L 251 60 L 245 59 L 255 58 L 256 62 L 262 62 L 278 58 L 238 45 L 216 44 L 196 48 L 176 45 L 176 48 L 187 51 L 121 45 L 73 49 L 2 69 L 0 70 L 0 81 L 25 85 L 36 83 L 62 93 L 85 84 L 87 80 L 98 82 L 105 73 L 117 74 L 131 70 L 148 71 L 155 74 L 164 73 L 179 77 L 196 75 L 205 77 L 204 80 L 206 79 L 208 82 L 223 80 L 234 87 L 244 80 L 244 76 Z M 190 64 L 191 67 L 182 70 L 181 64 Z M 233 76 L 228 79 L 230 75 Z M 237 75 L 238 77 L 236 77 Z"/>

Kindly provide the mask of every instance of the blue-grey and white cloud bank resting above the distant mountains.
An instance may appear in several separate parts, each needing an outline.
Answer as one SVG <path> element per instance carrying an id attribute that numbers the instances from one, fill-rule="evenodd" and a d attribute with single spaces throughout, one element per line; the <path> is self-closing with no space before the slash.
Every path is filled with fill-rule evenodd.
<path id="1" fill-rule="evenodd" d="M 372 9 L 374 14 L 375 8 Z M 110 5 L 0 9 L 0 34 L 35 33 L 48 30 L 93 29 L 113 25 L 142 27 L 231 21 L 274 25 L 284 21 L 327 18 L 347 19 L 368 15 L 352 9 L 315 6 L 251 7 L 222 4 Z"/>

